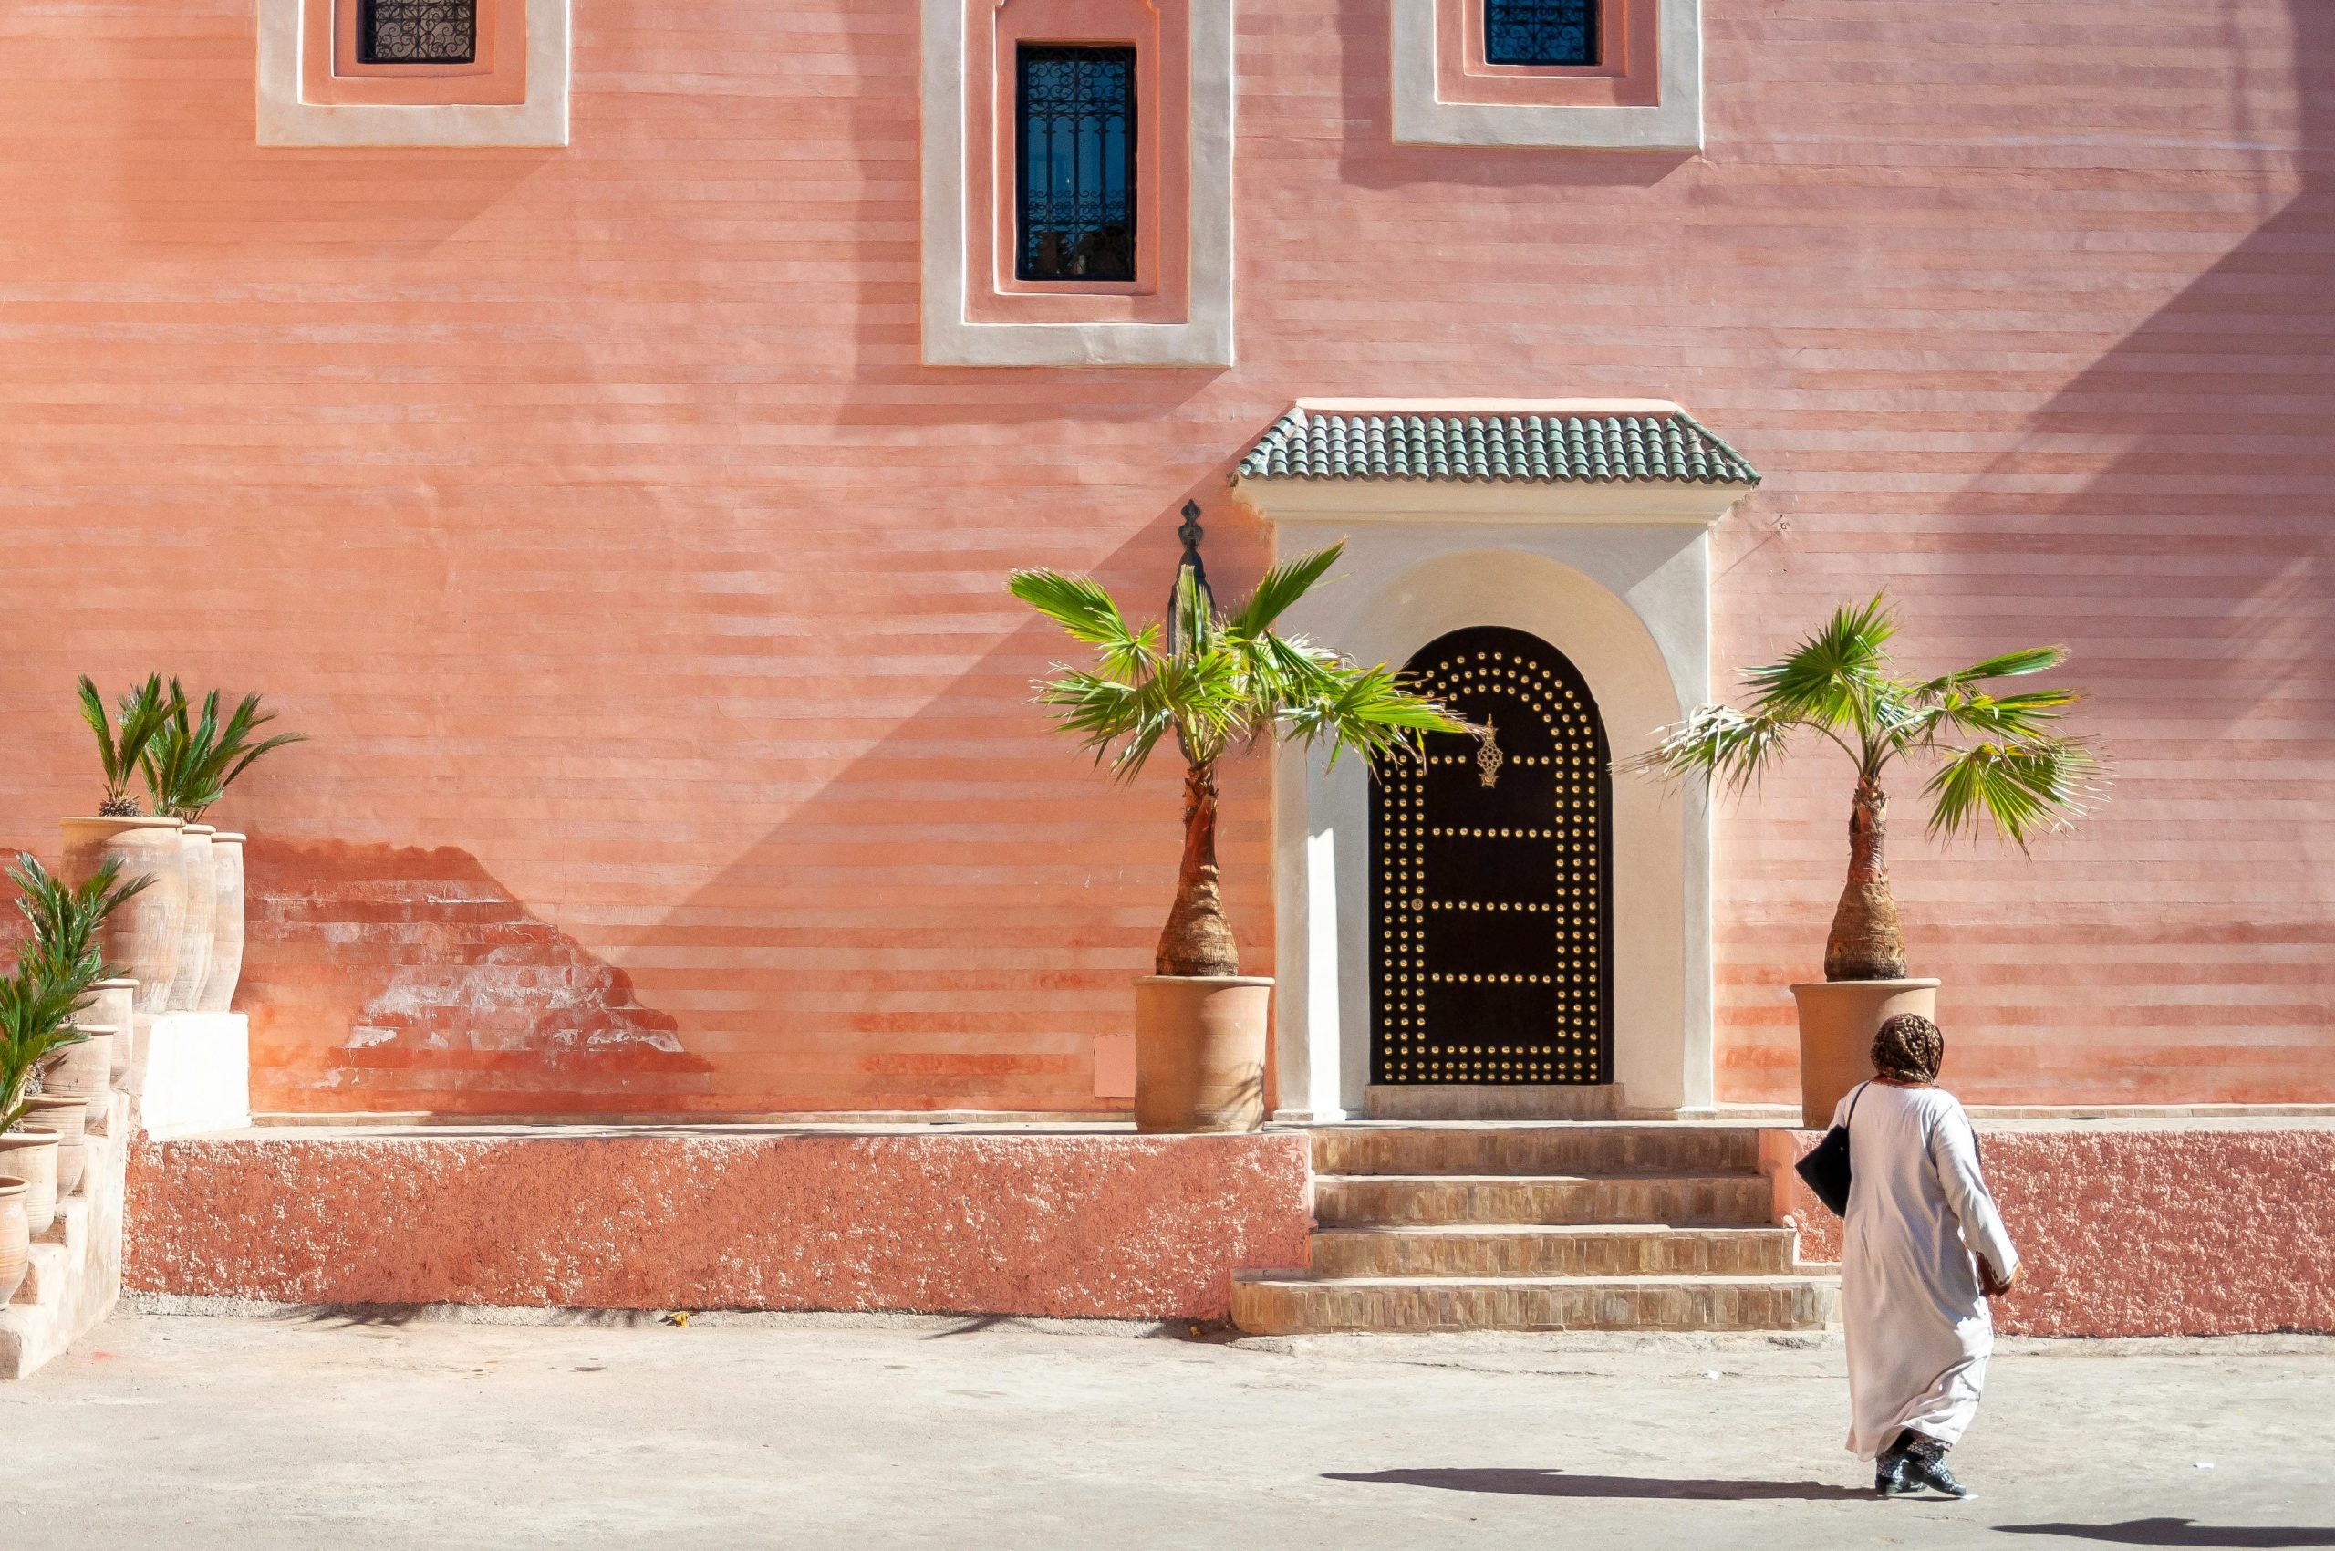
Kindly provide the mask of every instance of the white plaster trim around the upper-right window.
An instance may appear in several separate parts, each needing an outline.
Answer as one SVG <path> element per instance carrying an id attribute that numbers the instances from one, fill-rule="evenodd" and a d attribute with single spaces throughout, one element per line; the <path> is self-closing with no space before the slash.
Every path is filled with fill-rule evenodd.
<path id="1" fill-rule="evenodd" d="M 1663 7 L 1658 105 L 1548 107 L 1445 103 L 1436 91 L 1436 2 L 1392 0 L 1394 138 L 1401 145 L 1546 145 L 1576 149 L 1702 149 L 1702 5 Z"/>

